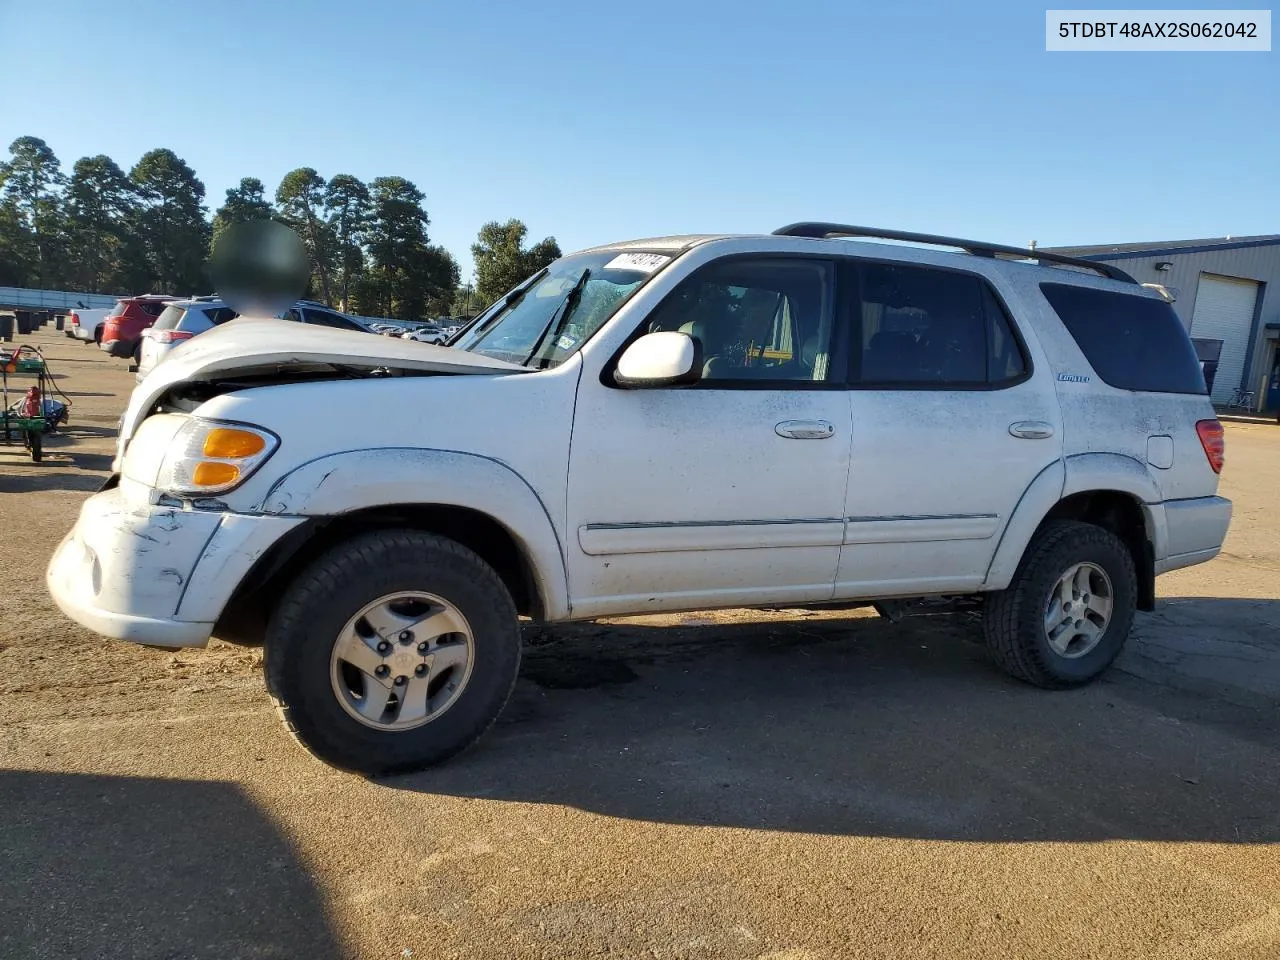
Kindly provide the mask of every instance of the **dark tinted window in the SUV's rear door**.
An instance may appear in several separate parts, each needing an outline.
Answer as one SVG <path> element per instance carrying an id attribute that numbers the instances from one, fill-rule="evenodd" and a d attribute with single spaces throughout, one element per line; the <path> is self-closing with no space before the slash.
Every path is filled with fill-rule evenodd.
<path id="1" fill-rule="evenodd" d="M 973 388 L 1025 374 L 1012 324 L 980 276 L 861 264 L 859 280 L 860 384 Z"/>

